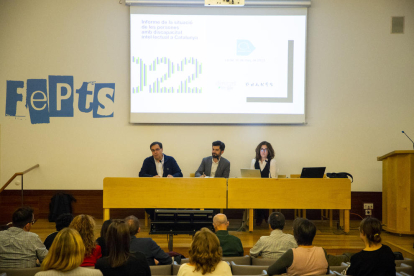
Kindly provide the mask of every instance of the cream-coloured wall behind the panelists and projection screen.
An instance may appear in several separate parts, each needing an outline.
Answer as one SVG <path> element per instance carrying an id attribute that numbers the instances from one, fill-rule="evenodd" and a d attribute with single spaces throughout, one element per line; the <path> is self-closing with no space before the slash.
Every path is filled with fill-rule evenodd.
<path id="1" fill-rule="evenodd" d="M 403 35 L 391 16 L 405 16 Z M 312 0 L 308 18 L 307 125 L 129 124 L 129 7 L 118 0 L 0 1 L 1 182 L 39 163 L 25 189 L 102 189 L 106 176 L 137 176 L 149 144 L 164 144 L 183 174 L 194 172 L 211 142 L 226 143 L 231 177 L 268 140 L 280 174 L 303 166 L 354 175 L 353 191 L 381 191 L 376 157 L 412 149 L 414 1 Z M 5 116 L 6 81 L 74 76 L 115 83 L 113 118 L 79 112 L 49 124 Z M 217 102 L 217 104 L 220 103 Z M 156 108 L 156 103 L 154 103 Z M 17 188 L 13 185 L 11 188 Z"/>

